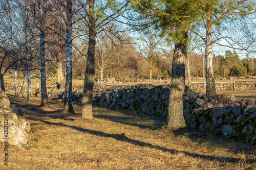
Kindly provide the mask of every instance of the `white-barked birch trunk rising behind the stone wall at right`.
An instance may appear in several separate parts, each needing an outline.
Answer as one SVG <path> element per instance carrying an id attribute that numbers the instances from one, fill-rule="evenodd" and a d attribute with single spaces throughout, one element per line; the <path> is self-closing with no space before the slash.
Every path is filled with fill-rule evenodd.
<path id="1" fill-rule="evenodd" d="M 212 16 L 207 16 L 206 26 L 206 95 L 216 95 L 215 78 L 214 78 L 214 66 L 212 65 Z"/>

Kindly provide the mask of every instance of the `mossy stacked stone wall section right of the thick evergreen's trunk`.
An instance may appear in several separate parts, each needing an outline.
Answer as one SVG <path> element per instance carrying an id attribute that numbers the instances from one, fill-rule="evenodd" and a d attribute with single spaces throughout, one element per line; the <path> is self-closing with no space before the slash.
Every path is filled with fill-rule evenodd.
<path id="1" fill-rule="evenodd" d="M 256 143 L 256 104 L 253 100 L 236 101 L 233 95 L 195 97 L 185 94 L 184 117 L 188 126 L 218 135 L 236 136 Z"/>

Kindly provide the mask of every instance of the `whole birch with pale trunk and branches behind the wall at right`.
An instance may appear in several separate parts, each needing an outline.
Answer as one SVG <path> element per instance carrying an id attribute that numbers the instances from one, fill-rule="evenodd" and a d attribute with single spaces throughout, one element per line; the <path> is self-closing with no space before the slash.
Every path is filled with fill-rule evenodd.
<path id="1" fill-rule="evenodd" d="M 255 12 L 255 4 L 246 0 L 226 0 L 219 1 L 218 5 L 208 10 L 202 18 L 201 26 L 205 29 L 205 36 L 196 32 L 205 42 L 205 58 L 206 58 L 206 95 L 215 95 L 215 77 L 214 67 L 212 64 L 212 46 L 218 44 L 221 46 L 231 47 L 237 50 L 248 50 L 255 41 L 250 35 L 250 31 L 241 34 L 245 27 L 238 29 L 239 17 L 243 19 L 245 15 Z M 231 23 L 231 27 L 230 26 Z M 240 32 L 240 33 L 238 33 Z M 212 38 L 214 36 L 214 39 Z M 250 40 L 249 40 L 250 39 Z M 227 44 L 221 44 L 221 40 Z M 245 40 L 247 42 L 245 42 Z"/>

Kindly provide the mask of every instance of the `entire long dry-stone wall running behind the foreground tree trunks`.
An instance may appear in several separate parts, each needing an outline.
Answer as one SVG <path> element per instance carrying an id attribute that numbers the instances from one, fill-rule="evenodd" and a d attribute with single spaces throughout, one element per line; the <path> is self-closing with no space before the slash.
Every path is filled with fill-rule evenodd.
<path id="1" fill-rule="evenodd" d="M 94 89 L 93 105 L 111 109 L 134 109 L 166 117 L 169 85 L 138 84 L 128 87 Z M 64 89 L 48 93 L 50 100 L 63 99 Z M 73 102 L 80 102 L 82 91 L 74 91 Z M 235 136 L 256 143 L 256 104 L 253 100 L 236 101 L 233 95 L 206 96 L 187 86 L 184 93 L 184 117 L 191 128 L 214 134 Z"/>

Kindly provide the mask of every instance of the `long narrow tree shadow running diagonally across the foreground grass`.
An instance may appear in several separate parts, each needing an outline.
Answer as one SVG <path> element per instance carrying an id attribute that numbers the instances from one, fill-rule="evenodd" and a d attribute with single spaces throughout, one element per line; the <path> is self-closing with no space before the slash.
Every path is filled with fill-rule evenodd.
<path id="1" fill-rule="evenodd" d="M 34 118 L 28 118 L 28 119 L 38 121 L 38 119 L 34 119 Z M 123 134 L 108 134 L 108 133 L 104 133 L 104 132 L 100 132 L 100 131 L 89 130 L 89 129 L 79 128 L 79 127 L 76 127 L 76 126 L 65 125 L 65 124 L 62 124 L 62 123 L 52 123 L 52 122 L 49 122 L 49 121 L 46 121 L 46 120 L 39 120 L 39 121 L 43 122 L 45 124 L 48 124 L 48 125 L 55 125 L 55 126 L 72 128 L 72 129 L 75 129 L 77 131 L 80 131 L 80 132 L 83 132 L 83 133 L 93 134 L 93 135 L 96 135 L 96 136 L 114 138 L 118 141 L 124 141 L 124 142 L 128 142 L 128 143 L 132 143 L 132 144 L 138 145 L 139 147 L 148 147 L 148 148 L 151 148 L 151 149 L 161 150 L 163 152 L 168 152 L 170 154 L 182 153 L 184 155 L 187 155 L 187 156 L 190 156 L 190 157 L 193 157 L 193 158 L 202 158 L 202 159 L 206 159 L 206 160 L 210 160 L 210 161 L 219 161 L 219 162 L 229 162 L 229 163 L 233 162 L 233 163 L 236 163 L 236 162 L 240 161 L 240 159 L 237 159 L 237 158 L 207 156 L 207 155 L 201 155 L 201 154 L 196 154 L 196 153 L 189 153 L 189 152 L 186 152 L 186 151 L 177 151 L 177 150 L 174 150 L 174 149 L 167 149 L 167 148 L 160 147 L 158 145 L 154 145 L 154 144 L 151 144 L 151 143 L 146 143 L 146 142 L 142 142 L 142 141 L 139 141 L 139 140 L 128 138 L 128 137 L 124 136 Z M 246 162 L 247 163 L 254 163 L 255 160 L 254 159 L 247 159 Z"/>

